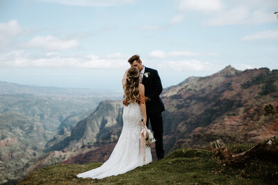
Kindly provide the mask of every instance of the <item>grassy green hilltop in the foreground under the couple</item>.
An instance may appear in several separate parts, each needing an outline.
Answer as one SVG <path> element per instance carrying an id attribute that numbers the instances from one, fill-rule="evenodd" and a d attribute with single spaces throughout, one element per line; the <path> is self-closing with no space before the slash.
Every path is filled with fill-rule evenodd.
<path id="1" fill-rule="evenodd" d="M 242 147 L 242 146 L 240 146 Z M 105 179 L 80 179 L 98 164 L 56 164 L 40 168 L 19 184 L 275 184 L 278 164 L 256 161 L 243 167 L 222 166 L 213 152 L 181 148 L 161 161 Z"/>

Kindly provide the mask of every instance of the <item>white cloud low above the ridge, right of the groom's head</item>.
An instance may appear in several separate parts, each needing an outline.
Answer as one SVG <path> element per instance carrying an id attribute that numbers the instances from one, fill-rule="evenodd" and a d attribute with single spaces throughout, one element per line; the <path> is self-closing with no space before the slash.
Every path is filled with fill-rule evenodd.
<path id="1" fill-rule="evenodd" d="M 174 69 L 175 71 L 217 71 L 222 66 L 201 62 L 199 60 L 164 61 L 158 64 L 159 68 Z"/>

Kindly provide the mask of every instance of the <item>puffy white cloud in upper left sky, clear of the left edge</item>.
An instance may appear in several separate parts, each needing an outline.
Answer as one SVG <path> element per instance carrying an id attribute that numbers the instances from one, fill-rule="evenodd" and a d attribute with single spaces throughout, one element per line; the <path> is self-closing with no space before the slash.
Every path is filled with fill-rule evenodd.
<path id="1" fill-rule="evenodd" d="M 61 51 L 76 48 L 79 46 L 79 42 L 76 39 L 62 40 L 48 35 L 45 37 L 34 37 L 26 44 L 26 46 L 36 49 L 42 49 L 44 51 Z"/>

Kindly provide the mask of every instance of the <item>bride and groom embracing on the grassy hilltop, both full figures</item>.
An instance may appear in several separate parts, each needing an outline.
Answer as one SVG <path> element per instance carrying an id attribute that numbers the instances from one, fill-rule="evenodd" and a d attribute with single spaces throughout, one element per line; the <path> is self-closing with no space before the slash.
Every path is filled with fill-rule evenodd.
<path id="1" fill-rule="evenodd" d="M 124 112 L 122 133 L 109 159 L 99 168 L 76 175 L 82 178 L 103 179 L 126 173 L 152 162 L 150 143 L 155 141 L 156 156 L 163 159 L 164 105 L 159 98 L 163 89 L 155 69 L 142 65 L 139 55 L 129 58 L 131 67 L 124 73 Z M 149 121 L 154 132 L 147 129 Z"/>

